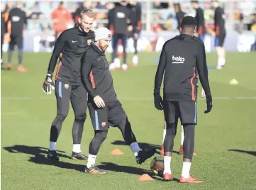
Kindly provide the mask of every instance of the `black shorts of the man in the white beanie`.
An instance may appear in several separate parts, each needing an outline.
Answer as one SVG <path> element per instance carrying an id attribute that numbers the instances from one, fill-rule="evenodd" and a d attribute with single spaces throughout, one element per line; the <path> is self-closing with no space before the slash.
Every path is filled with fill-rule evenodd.
<path id="1" fill-rule="evenodd" d="M 94 130 L 108 130 L 109 126 L 117 127 L 127 118 L 120 101 L 105 102 L 104 108 L 98 108 L 94 102 L 89 102 L 88 109 Z"/>

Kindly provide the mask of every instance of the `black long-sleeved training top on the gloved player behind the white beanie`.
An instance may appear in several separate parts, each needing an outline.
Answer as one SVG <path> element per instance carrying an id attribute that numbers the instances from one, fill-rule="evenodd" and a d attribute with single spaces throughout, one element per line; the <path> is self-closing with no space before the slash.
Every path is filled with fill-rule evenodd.
<path id="1" fill-rule="evenodd" d="M 92 40 L 94 40 L 94 31 L 89 30 L 89 33 L 84 33 L 79 26 L 62 32 L 55 43 L 48 73 L 54 72 L 57 59 L 60 57 L 55 79 L 66 84 L 82 85 L 81 58 Z"/>

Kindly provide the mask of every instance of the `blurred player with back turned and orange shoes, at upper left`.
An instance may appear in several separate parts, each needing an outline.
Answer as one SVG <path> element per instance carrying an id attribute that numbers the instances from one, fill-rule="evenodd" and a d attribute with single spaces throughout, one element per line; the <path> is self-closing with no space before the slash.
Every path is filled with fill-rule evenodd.
<path id="1" fill-rule="evenodd" d="M 11 70 L 11 58 L 15 45 L 18 46 L 18 72 L 27 72 L 28 69 L 22 66 L 23 62 L 23 30 L 27 24 L 26 13 L 21 10 L 23 4 L 21 1 L 16 2 L 16 7 L 11 9 L 7 21 L 7 30 L 10 36 L 8 64 L 7 68 Z"/>

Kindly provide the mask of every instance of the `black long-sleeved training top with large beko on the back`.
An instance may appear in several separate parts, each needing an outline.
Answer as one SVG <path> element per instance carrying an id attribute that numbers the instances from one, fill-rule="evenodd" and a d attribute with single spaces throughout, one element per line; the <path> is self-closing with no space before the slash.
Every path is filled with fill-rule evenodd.
<path id="1" fill-rule="evenodd" d="M 164 100 L 196 101 L 198 76 L 206 96 L 211 96 L 204 43 L 199 38 L 182 34 L 163 45 L 155 74 L 156 94 L 164 73 Z"/>

